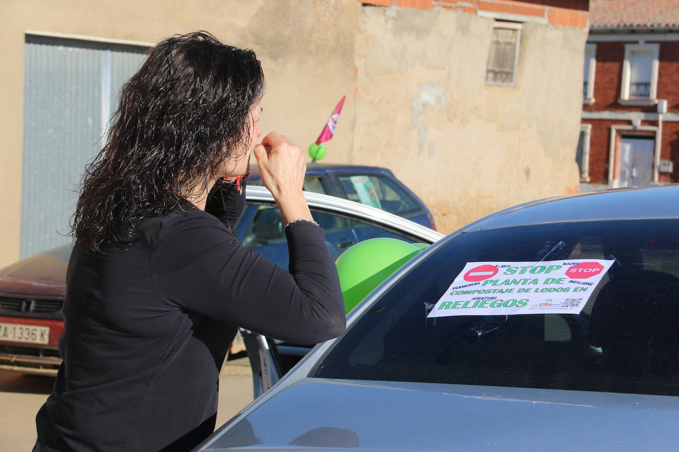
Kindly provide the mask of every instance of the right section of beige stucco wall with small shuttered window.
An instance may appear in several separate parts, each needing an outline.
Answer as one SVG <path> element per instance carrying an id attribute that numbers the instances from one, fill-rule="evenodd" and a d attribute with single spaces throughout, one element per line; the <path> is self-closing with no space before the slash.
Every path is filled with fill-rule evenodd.
<path id="1" fill-rule="evenodd" d="M 587 35 L 523 24 L 515 87 L 490 87 L 493 22 L 443 8 L 361 14 L 352 158 L 390 167 L 441 232 L 579 185 Z"/>

